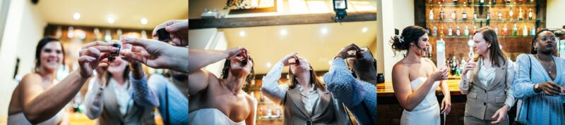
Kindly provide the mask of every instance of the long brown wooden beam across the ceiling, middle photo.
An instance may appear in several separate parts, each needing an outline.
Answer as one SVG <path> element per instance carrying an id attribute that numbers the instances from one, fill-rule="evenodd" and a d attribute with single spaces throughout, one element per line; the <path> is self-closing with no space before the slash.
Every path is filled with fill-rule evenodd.
<path id="1" fill-rule="evenodd" d="M 304 15 L 278 15 L 253 18 L 191 19 L 189 20 L 189 29 L 331 23 L 335 22 L 333 20 L 333 16 L 334 13 L 321 13 Z M 371 20 L 376 20 L 376 12 L 347 13 L 347 17 L 341 20 L 341 22 L 359 22 Z"/>

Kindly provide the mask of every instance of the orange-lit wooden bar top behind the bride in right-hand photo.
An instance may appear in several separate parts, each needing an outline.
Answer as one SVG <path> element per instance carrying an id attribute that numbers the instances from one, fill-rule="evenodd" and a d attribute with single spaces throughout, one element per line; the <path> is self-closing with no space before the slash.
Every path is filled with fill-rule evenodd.
<path id="1" fill-rule="evenodd" d="M 459 90 L 459 79 L 459 77 L 450 76 L 449 79 L 446 80 L 449 86 L 449 91 L 451 92 L 451 96 L 462 95 L 461 91 Z M 394 96 L 393 82 L 385 81 L 383 84 L 376 84 L 376 93 L 377 97 Z M 440 87 L 436 89 L 436 95 L 444 95 L 444 93 L 441 93 Z"/>

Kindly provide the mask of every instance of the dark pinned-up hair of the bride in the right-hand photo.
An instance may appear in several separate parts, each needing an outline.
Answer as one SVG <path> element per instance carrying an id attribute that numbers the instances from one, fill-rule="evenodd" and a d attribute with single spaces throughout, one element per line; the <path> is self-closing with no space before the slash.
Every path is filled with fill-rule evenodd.
<path id="1" fill-rule="evenodd" d="M 427 34 L 428 30 L 424 27 L 411 25 L 402 30 L 400 36 L 391 37 L 392 48 L 395 51 L 394 55 L 398 51 L 406 51 L 410 48 L 410 43 L 414 43 L 418 48 L 422 48 L 418 45 L 418 39 L 424 34 Z M 402 37 L 403 42 L 400 42 L 400 37 Z"/>

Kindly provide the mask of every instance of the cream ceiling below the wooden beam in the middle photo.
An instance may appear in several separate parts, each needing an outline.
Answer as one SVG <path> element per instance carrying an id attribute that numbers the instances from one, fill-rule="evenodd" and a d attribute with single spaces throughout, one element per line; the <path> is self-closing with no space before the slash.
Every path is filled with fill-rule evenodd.
<path id="1" fill-rule="evenodd" d="M 362 32 L 366 27 L 367 32 Z M 323 28 L 327 34 L 321 33 Z M 282 35 L 281 29 L 287 34 Z M 276 62 L 292 52 L 297 52 L 311 63 L 316 71 L 329 69 L 328 61 L 340 48 L 350 44 L 376 48 L 376 21 L 325 23 L 313 25 L 281 25 L 269 27 L 242 27 L 219 29 L 225 32 L 228 48 L 246 47 L 255 61 L 256 74 L 266 74 Z M 245 32 L 241 37 L 240 32 Z M 376 55 L 371 48 L 373 55 Z M 287 72 L 285 69 L 284 72 Z"/>

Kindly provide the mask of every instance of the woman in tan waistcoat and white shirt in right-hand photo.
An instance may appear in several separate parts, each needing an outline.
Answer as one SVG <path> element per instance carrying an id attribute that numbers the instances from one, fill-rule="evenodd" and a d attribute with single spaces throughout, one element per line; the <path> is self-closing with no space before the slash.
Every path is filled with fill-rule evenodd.
<path id="1" fill-rule="evenodd" d="M 473 41 L 475 56 L 465 64 L 459 81 L 461 93 L 467 95 L 464 123 L 509 124 L 513 62 L 504 55 L 493 29 L 478 29 Z"/>

